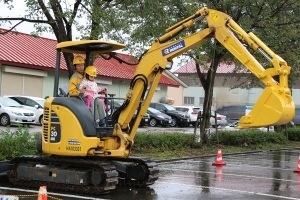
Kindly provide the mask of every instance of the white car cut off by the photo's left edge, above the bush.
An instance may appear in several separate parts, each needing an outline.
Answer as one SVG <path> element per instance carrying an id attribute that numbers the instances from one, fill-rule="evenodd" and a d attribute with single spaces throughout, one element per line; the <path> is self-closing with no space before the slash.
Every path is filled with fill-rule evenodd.
<path id="1" fill-rule="evenodd" d="M 0 124 L 32 124 L 35 121 L 34 112 L 25 109 L 21 104 L 8 97 L 0 97 Z"/>

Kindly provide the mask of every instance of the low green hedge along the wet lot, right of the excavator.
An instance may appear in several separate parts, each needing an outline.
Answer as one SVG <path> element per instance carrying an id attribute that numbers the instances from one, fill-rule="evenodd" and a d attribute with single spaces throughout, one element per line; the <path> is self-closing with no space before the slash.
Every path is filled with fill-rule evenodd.
<path id="1" fill-rule="evenodd" d="M 300 141 L 300 128 L 289 128 L 288 139 Z M 263 132 L 260 130 L 218 131 L 219 143 L 216 134 L 211 134 L 210 145 L 233 147 L 268 146 L 269 144 L 284 145 L 286 134 L 283 132 Z M 183 133 L 139 133 L 135 137 L 133 149 L 139 151 L 172 151 L 188 150 L 203 147 L 197 142 L 194 134 Z"/>

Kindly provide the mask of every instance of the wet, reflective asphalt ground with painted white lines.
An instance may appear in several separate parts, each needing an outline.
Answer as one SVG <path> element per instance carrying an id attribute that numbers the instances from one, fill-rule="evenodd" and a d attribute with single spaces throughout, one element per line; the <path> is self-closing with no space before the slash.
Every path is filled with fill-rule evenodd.
<path id="1" fill-rule="evenodd" d="M 147 188 L 117 187 L 110 194 L 98 196 L 48 191 L 48 199 L 300 199 L 299 153 L 299 149 L 236 154 L 222 151 L 224 166 L 213 166 L 216 155 L 161 161 L 159 179 Z M 14 188 L 5 177 L 0 178 L 2 195 L 22 197 L 36 195 L 37 191 Z"/>

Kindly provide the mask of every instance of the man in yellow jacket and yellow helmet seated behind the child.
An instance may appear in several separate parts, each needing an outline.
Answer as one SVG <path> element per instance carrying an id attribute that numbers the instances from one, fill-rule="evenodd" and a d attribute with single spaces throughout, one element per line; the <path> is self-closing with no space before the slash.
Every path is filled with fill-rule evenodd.
<path id="1" fill-rule="evenodd" d="M 73 60 L 73 65 L 75 68 L 75 72 L 72 75 L 69 82 L 69 95 L 70 96 L 80 96 L 83 97 L 86 91 L 86 88 L 79 88 L 83 77 L 84 77 L 84 63 L 85 59 L 82 56 L 76 56 Z M 96 73 L 96 72 L 95 72 Z M 103 103 L 100 99 L 95 99 L 95 101 L 91 102 L 91 111 L 94 116 L 96 122 L 103 122 L 105 118 L 105 111 L 103 107 Z M 103 125 L 103 124 L 101 124 Z"/>

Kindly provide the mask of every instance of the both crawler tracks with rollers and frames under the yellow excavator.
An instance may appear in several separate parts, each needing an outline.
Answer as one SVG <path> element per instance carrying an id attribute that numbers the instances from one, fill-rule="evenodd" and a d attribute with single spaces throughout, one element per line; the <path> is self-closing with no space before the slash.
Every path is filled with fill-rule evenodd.
<path id="1" fill-rule="evenodd" d="M 27 166 L 34 168 L 34 170 L 31 172 L 23 170 Z M 51 166 L 51 168 L 45 172 L 38 172 L 38 168 L 41 166 Z M 32 174 L 35 173 L 39 177 L 49 176 L 52 171 L 57 171 L 57 169 L 66 170 L 66 173 L 74 170 L 68 179 L 71 179 L 73 174 L 76 176 L 80 171 L 88 171 L 90 176 L 96 177 L 96 180 L 89 181 L 89 184 L 68 184 L 32 178 Z M 158 179 L 159 170 L 156 162 L 148 158 L 103 159 L 99 157 L 20 156 L 11 161 L 7 174 L 9 181 L 20 187 L 36 189 L 45 185 L 50 190 L 95 195 L 109 193 L 115 189 L 116 185 L 147 187 Z M 97 178 L 101 181 L 98 181 Z"/>

